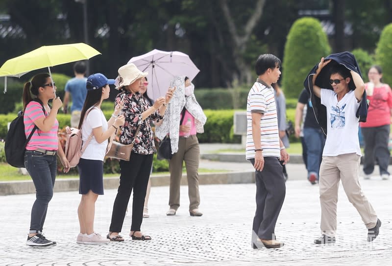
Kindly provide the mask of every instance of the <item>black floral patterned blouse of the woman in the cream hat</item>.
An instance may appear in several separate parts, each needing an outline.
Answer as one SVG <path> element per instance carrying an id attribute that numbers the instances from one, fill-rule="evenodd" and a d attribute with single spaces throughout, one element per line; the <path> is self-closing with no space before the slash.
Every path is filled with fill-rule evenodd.
<path id="1" fill-rule="evenodd" d="M 116 103 L 120 103 L 122 98 L 122 111 L 125 117 L 125 124 L 120 127 L 120 142 L 123 144 L 131 144 L 138 126 L 141 125 L 132 151 L 141 155 L 155 153 L 156 148 L 150 122 L 151 120 L 159 122 L 159 120 L 163 119 L 162 115 L 159 113 L 159 110 L 157 110 L 142 121 L 142 113 L 149 107 L 149 104 L 143 95 L 139 92 L 132 93 L 122 89 L 122 92 L 116 96 Z"/>

